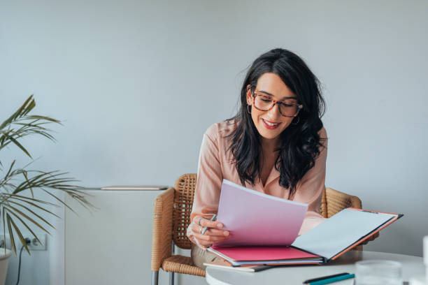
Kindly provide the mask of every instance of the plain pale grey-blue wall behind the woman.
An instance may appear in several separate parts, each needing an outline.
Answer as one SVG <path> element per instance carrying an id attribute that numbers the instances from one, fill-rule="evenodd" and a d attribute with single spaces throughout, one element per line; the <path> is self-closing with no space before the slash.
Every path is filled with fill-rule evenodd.
<path id="1" fill-rule="evenodd" d="M 35 167 L 85 186 L 172 185 L 196 172 L 205 129 L 234 114 L 243 70 L 285 47 L 324 86 L 327 185 L 405 214 L 366 249 L 422 254 L 427 1 L 0 5 L 0 118 L 35 94 L 37 113 L 64 121 L 56 144 L 27 140 Z"/>

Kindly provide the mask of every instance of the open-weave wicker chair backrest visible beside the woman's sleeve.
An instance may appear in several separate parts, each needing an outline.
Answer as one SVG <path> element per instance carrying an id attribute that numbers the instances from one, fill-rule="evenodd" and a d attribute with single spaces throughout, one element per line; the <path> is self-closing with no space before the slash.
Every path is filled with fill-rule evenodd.
<path id="1" fill-rule="evenodd" d="M 194 189 L 197 175 L 195 173 L 184 174 L 178 177 L 174 186 L 173 204 L 173 241 L 182 249 L 190 249 L 192 242 L 187 238 L 186 231 L 190 224 Z"/>

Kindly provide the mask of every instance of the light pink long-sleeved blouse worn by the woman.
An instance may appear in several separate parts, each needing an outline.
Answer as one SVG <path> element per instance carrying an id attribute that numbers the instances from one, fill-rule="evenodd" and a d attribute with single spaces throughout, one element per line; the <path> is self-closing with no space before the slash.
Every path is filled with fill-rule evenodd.
<path id="1" fill-rule="evenodd" d="M 211 218 L 214 213 L 217 213 L 223 179 L 241 185 L 234 165 L 234 156 L 229 149 L 231 138 L 226 138 L 234 129 L 236 129 L 235 121 L 220 122 L 210 126 L 204 133 L 199 154 L 191 221 L 198 215 Z M 308 212 L 306 212 L 299 234 L 305 233 L 324 221 L 319 212 L 327 159 L 327 133 L 324 128 L 320 130 L 320 137 L 325 138 L 322 141 L 324 147 L 321 147 L 320 155 L 315 159 L 315 166 L 308 170 L 297 184 L 297 191 L 292 199 L 308 204 Z M 273 167 L 264 187 L 260 180 L 256 181 L 254 186 L 246 183 L 245 187 L 287 199 L 290 189 L 281 187 L 279 178 L 279 171 Z"/>

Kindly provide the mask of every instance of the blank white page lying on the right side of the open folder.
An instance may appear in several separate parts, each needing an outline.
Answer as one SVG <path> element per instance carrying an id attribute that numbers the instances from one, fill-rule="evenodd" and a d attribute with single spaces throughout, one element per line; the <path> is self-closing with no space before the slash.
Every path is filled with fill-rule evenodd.
<path id="1" fill-rule="evenodd" d="M 396 214 L 345 209 L 297 238 L 292 246 L 329 259 Z"/>

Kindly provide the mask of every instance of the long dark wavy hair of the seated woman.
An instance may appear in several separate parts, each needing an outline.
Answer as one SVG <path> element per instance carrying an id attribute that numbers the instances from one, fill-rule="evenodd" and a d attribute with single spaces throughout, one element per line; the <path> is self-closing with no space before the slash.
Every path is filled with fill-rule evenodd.
<path id="1" fill-rule="evenodd" d="M 298 119 L 295 118 L 280 134 L 280 147 L 275 168 L 280 172 L 279 184 L 290 188 L 289 198 L 297 191 L 297 184 L 313 168 L 320 154 L 322 139 L 318 131 L 322 129 L 321 117 L 325 103 L 320 91 L 320 82 L 305 62 L 288 50 L 280 48 L 270 50 L 258 57 L 250 66 L 241 89 L 241 107 L 235 117 L 236 129 L 231 137 L 231 152 L 236 163 L 239 179 L 244 185 L 254 185 L 260 179 L 262 166 L 260 156 L 262 145 L 259 132 L 252 122 L 247 106 L 247 86 L 255 87 L 264 73 L 275 73 L 297 96 L 303 105 Z M 229 119 L 230 120 L 230 119 Z"/>

